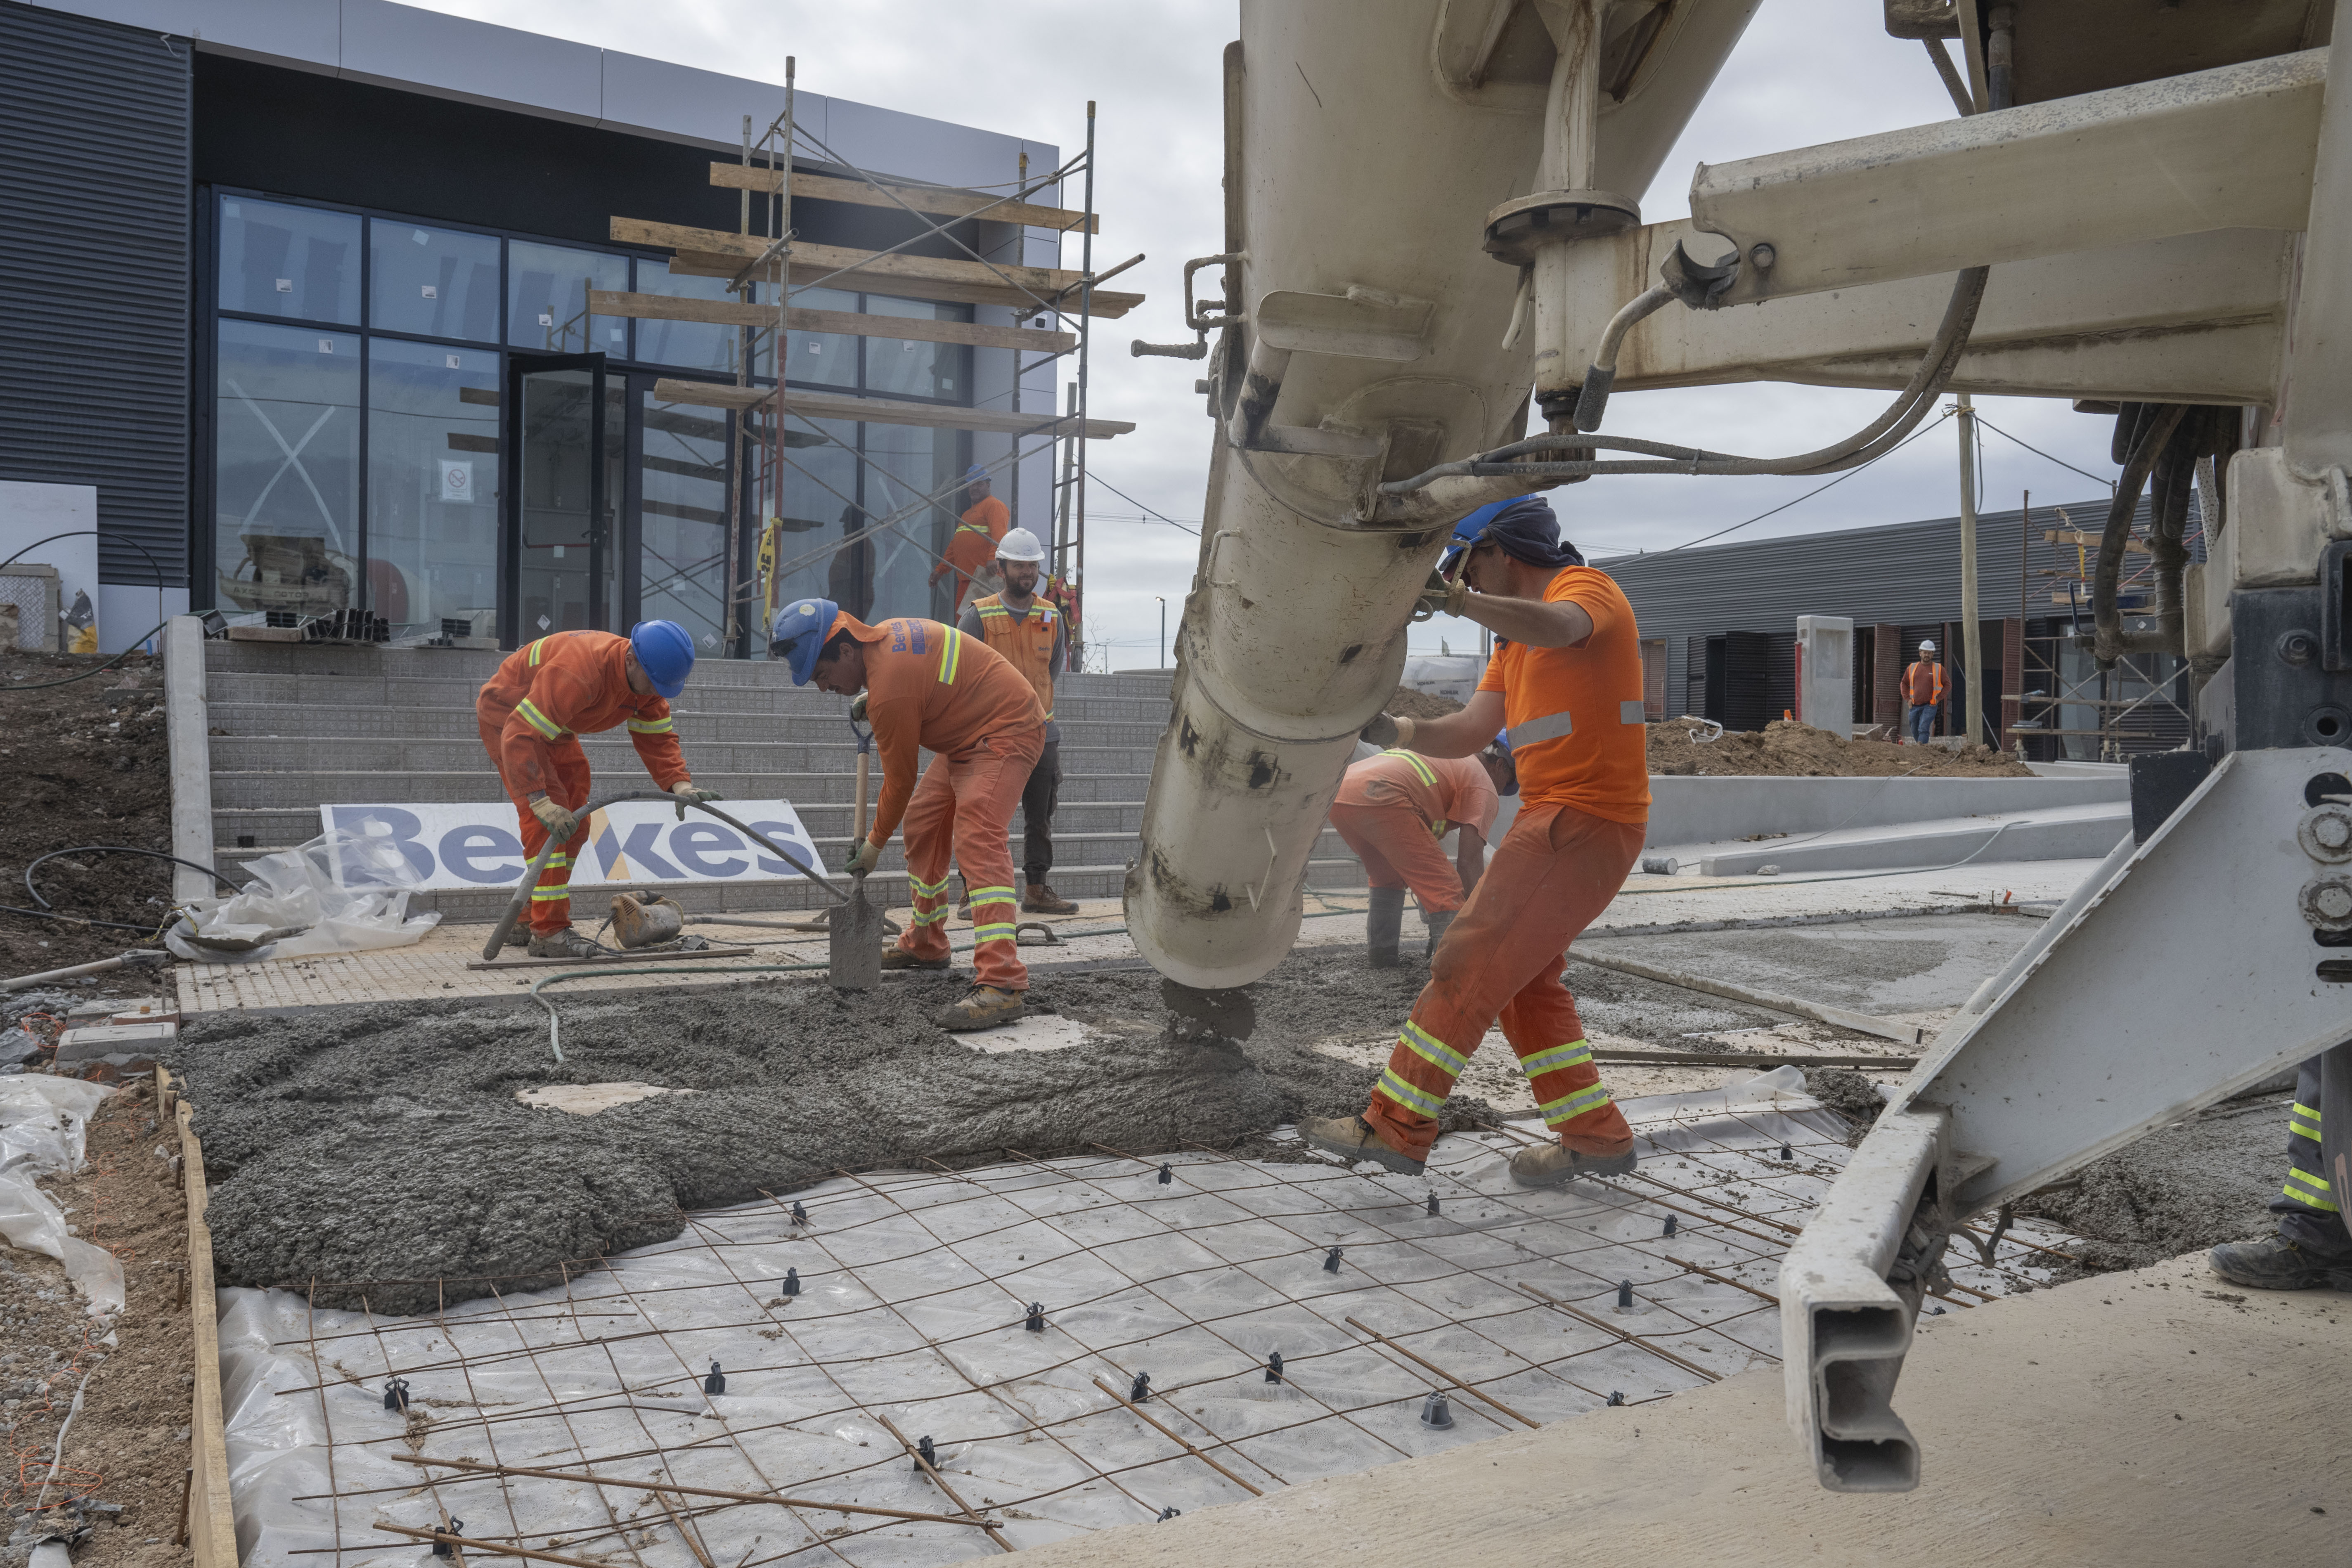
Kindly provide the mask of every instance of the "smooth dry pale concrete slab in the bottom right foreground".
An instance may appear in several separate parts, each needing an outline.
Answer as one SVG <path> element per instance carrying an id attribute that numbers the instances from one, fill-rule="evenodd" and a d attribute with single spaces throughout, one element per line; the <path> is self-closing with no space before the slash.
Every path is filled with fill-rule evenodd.
<path id="1" fill-rule="evenodd" d="M 1919 1490 L 1825 1493 L 1780 1368 L 1167 1523 L 1033 1547 L 1035 1568 L 1383 1563 L 2352 1561 L 2352 1458 L 2281 1410 L 2352 1396 L 2352 1298 L 2234 1291 L 2183 1258 L 1922 1319 L 1896 1410 Z M 2197 1354 L 2187 1354 L 2194 1349 Z"/>

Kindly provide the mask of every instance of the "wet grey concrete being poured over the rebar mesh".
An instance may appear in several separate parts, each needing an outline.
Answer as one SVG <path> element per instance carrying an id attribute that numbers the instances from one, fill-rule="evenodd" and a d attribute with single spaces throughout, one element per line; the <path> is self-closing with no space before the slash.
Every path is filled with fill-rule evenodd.
<path id="1" fill-rule="evenodd" d="M 1237 1147 L 1362 1110 L 1374 1074 L 1312 1041 L 1395 1030 L 1421 980 L 1362 952 L 1294 954 L 1251 987 L 1247 1041 L 1169 1027 L 1152 973 L 1040 966 L 1033 1009 L 1094 1041 L 978 1053 L 929 1025 L 967 983 L 903 976 L 854 1001 L 809 983 L 572 997 L 562 1065 L 529 1004 L 223 1013 L 181 1030 L 174 1065 L 200 1107 L 226 1284 L 430 1312 L 837 1171 Z M 626 1079 L 694 1093 L 595 1117 L 515 1103 Z"/>

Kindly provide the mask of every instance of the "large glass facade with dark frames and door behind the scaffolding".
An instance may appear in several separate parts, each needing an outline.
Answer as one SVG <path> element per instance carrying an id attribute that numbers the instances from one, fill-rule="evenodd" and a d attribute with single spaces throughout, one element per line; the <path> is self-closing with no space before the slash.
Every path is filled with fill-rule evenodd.
<path id="1" fill-rule="evenodd" d="M 741 327 L 588 315 L 588 292 L 727 301 L 724 277 L 400 214 L 226 190 L 212 200 L 212 524 L 200 552 L 219 609 L 369 609 L 395 642 L 513 644 L 668 618 L 706 654 L 722 651 L 729 574 L 750 559 L 760 505 L 739 494 L 741 421 L 661 402 L 654 383 L 731 383 L 755 346 L 753 376 L 771 383 L 774 355 Z M 774 284 L 753 299 L 771 306 Z M 802 289 L 793 306 L 971 320 L 969 306 L 844 289 Z M 828 393 L 971 402 L 964 346 L 795 331 L 786 374 Z M 830 595 L 866 616 L 946 614 L 927 550 L 953 517 L 922 496 L 953 484 L 969 442 L 788 423 L 786 555 L 837 548 L 802 564 L 786 597 Z M 901 520 L 906 534 L 880 531 Z"/>

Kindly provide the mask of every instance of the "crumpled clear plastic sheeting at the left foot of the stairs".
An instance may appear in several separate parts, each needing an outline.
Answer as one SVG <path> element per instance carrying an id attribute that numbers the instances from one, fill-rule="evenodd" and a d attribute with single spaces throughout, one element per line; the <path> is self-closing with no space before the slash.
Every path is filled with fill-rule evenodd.
<path id="1" fill-rule="evenodd" d="M 336 865 L 365 867 L 372 882 L 388 886 L 339 886 Z M 440 914 L 409 914 L 416 870 L 388 837 L 322 832 L 299 849 L 247 860 L 245 870 L 254 879 L 228 898 L 191 898 L 183 905 L 186 917 L 162 936 L 174 957 L 252 964 L 407 947 L 440 924 Z"/>

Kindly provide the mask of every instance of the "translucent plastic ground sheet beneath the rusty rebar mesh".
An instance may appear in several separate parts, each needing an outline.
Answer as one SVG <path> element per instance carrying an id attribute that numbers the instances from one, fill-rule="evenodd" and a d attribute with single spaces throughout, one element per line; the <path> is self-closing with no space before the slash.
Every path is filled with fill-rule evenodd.
<path id="1" fill-rule="evenodd" d="M 1778 1258 L 1844 1124 L 1790 1093 L 1628 1112 L 1639 1173 L 1562 1190 L 1508 1178 L 1531 1124 L 1451 1135 L 1414 1180 L 1007 1152 L 689 1215 L 437 1316 L 223 1291 L 238 1544 L 249 1568 L 423 1563 L 433 1530 L 614 1568 L 948 1563 L 1771 1366 Z M 2067 1246 L 1962 1241 L 1931 1309 Z"/>

